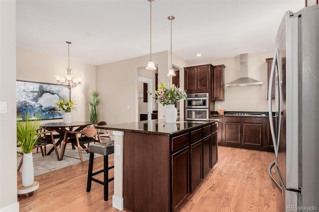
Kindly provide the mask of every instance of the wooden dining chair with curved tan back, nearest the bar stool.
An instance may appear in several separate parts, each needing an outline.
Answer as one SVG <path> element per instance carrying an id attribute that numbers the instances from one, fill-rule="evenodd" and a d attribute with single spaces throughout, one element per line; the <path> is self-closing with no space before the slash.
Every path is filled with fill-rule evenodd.
<path id="1" fill-rule="evenodd" d="M 69 131 L 69 130 L 63 130 L 63 131 L 64 131 L 64 138 L 63 138 L 63 145 L 62 145 L 60 160 L 63 159 L 66 144 L 71 143 L 78 148 L 81 165 L 84 166 L 81 152 L 86 151 L 87 153 L 89 153 L 90 143 L 95 141 L 96 136 L 98 136 L 98 139 L 100 139 L 98 134 L 98 129 L 92 126 L 92 127 L 87 127 L 81 131 Z M 85 146 L 85 144 L 87 144 L 87 146 Z"/>

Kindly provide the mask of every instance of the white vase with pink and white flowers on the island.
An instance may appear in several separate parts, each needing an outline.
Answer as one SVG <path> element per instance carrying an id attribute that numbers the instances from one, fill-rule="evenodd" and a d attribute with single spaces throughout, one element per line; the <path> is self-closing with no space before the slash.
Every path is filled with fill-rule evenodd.
<path id="1" fill-rule="evenodd" d="M 170 81 L 166 82 L 167 87 L 162 82 L 155 91 L 156 103 L 166 106 L 164 109 L 164 119 L 166 123 L 175 123 L 177 119 L 176 103 L 186 99 L 186 92 L 174 84 L 170 85 Z M 149 92 L 148 92 L 149 93 Z M 152 93 L 149 93 L 152 95 Z"/>

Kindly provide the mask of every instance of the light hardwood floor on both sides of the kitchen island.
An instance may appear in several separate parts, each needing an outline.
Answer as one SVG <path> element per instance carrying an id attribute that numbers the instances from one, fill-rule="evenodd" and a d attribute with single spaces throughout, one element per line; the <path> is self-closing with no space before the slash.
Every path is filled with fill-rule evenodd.
<path id="1" fill-rule="evenodd" d="M 271 152 L 218 147 L 217 164 L 179 211 L 276 212 L 278 193 L 268 176 L 274 157 Z M 113 157 L 109 159 L 113 163 Z M 102 162 L 102 157 L 96 159 L 94 167 L 102 167 Z M 31 197 L 18 197 L 20 212 L 119 212 L 112 208 L 113 182 L 108 202 L 100 184 L 92 182 L 91 192 L 86 193 L 87 169 L 85 161 L 84 167 L 75 164 L 36 176 L 40 187 Z"/>

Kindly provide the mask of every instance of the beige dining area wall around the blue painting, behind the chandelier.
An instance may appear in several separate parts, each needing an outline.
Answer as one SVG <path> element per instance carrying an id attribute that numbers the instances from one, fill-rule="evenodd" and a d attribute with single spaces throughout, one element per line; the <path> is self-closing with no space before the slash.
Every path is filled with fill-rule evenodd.
<path id="1" fill-rule="evenodd" d="M 61 43 L 61 45 L 64 45 Z M 66 52 L 67 53 L 67 52 Z M 41 83 L 56 84 L 54 75 L 65 76 L 68 67 L 67 54 L 64 58 L 52 56 L 24 48 L 16 48 L 16 79 Z M 71 89 L 71 99 L 77 104 L 77 111 L 72 111 L 72 120 L 89 120 L 88 101 L 95 87 L 95 66 L 70 60 L 71 75 L 83 78 L 82 85 Z M 61 119 L 43 122 L 59 122 Z"/>

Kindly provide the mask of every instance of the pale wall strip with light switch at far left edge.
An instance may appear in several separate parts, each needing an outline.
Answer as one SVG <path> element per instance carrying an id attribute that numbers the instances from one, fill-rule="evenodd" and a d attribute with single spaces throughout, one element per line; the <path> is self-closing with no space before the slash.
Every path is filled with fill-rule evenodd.
<path id="1" fill-rule="evenodd" d="M 0 0 L 0 211 L 16 212 L 15 0 Z"/>

